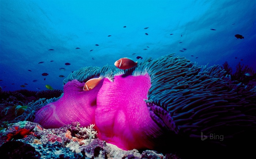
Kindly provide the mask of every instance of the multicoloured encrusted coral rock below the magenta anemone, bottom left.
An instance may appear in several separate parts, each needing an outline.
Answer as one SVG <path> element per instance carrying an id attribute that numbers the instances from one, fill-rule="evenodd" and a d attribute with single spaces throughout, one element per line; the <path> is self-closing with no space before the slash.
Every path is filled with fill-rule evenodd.
<path id="1" fill-rule="evenodd" d="M 8 140 L 8 134 L 28 130 L 27 135 Z M 94 135 L 93 135 L 94 134 Z M 61 128 L 44 129 L 37 123 L 19 122 L 8 124 L 0 131 L 0 154 L 3 158 L 69 158 L 69 159 L 171 159 L 175 154 L 161 154 L 156 151 L 124 151 L 112 144 L 97 139 L 93 125 L 80 127 L 73 122 Z"/>

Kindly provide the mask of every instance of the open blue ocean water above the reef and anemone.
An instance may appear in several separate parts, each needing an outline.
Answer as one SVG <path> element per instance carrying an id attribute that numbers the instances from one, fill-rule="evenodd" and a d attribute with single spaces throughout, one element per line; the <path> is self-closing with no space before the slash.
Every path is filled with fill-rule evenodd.
<path id="1" fill-rule="evenodd" d="M 170 53 L 256 71 L 255 0 L 0 0 L 0 18 L 5 91 L 63 89 L 81 67 Z"/>

